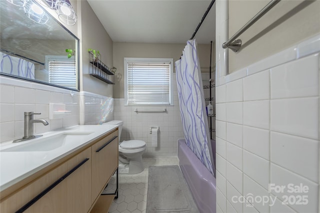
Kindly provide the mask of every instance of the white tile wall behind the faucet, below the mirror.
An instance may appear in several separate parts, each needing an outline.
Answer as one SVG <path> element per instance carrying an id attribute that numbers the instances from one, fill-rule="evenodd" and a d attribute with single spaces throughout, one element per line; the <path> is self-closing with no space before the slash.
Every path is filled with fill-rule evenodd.
<path id="1" fill-rule="evenodd" d="M 24 112 L 36 112 L 35 119 L 49 125 L 34 124 L 34 133 L 79 124 L 79 92 L 0 76 L 0 142 L 23 137 Z M 49 120 L 49 103 L 65 104 L 70 114 Z"/>

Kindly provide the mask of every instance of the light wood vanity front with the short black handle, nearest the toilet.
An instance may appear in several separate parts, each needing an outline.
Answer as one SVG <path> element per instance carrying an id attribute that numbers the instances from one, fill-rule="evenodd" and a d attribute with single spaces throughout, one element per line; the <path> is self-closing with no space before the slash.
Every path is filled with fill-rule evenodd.
<path id="1" fill-rule="evenodd" d="M 118 166 L 118 131 L 92 145 L 92 203 Z"/>

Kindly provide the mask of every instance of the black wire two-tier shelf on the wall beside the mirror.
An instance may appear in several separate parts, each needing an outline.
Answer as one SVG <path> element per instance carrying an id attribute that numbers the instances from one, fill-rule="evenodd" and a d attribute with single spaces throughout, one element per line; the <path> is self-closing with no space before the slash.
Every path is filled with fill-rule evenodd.
<path id="1" fill-rule="evenodd" d="M 114 73 L 101 61 L 100 58 L 95 58 L 93 53 L 89 51 L 89 62 L 92 64 L 89 74 L 107 84 L 114 84 Z"/>

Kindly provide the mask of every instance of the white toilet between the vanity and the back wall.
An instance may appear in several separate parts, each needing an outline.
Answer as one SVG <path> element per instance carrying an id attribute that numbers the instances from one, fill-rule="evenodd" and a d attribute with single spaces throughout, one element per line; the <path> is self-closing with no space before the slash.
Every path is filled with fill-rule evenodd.
<path id="1" fill-rule="evenodd" d="M 119 141 L 122 131 L 123 121 L 109 121 L 104 124 L 119 125 Z M 103 125 L 103 124 L 102 124 Z M 145 150 L 145 142 L 140 140 L 122 141 L 119 144 L 119 162 L 128 164 L 127 174 L 137 174 L 143 171 L 142 154 Z M 120 170 L 119 170 L 119 173 Z"/>

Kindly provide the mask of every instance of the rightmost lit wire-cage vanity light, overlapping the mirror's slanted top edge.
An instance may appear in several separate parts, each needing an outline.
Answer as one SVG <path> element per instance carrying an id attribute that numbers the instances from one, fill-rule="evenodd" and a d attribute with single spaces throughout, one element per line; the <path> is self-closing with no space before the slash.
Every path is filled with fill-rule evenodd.
<path id="1" fill-rule="evenodd" d="M 55 11 L 60 21 L 67 25 L 74 25 L 77 16 L 69 0 L 56 0 Z"/>

